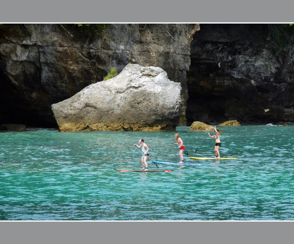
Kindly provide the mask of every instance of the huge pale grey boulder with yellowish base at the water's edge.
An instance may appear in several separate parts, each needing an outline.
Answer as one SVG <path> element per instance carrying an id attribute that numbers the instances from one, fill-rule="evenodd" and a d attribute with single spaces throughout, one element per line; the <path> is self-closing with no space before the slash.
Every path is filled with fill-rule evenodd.
<path id="1" fill-rule="evenodd" d="M 180 104 L 181 84 L 163 69 L 128 64 L 51 108 L 60 131 L 173 131 Z"/>

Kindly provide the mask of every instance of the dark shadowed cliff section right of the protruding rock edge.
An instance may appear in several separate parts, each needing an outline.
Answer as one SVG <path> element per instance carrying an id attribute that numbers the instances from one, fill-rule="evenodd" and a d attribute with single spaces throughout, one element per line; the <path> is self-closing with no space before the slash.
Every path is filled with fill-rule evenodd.
<path id="1" fill-rule="evenodd" d="M 187 72 L 189 123 L 294 122 L 293 43 L 275 49 L 267 28 L 200 24 Z"/>

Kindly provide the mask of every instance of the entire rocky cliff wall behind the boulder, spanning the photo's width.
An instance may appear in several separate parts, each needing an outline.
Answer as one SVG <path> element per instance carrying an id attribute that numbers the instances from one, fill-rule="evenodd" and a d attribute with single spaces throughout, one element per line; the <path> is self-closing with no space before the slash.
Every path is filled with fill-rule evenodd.
<path id="1" fill-rule="evenodd" d="M 179 125 L 294 122 L 293 38 L 277 52 L 264 27 L 111 24 L 89 38 L 74 24 L 3 24 L 0 124 L 56 126 L 51 104 L 127 64 L 181 83 Z"/>

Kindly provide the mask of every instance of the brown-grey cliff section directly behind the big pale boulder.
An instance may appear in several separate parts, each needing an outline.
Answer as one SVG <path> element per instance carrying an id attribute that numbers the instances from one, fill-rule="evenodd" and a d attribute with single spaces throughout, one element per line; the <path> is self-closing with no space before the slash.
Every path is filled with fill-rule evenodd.
<path id="1" fill-rule="evenodd" d="M 100 82 L 110 67 L 161 67 L 181 83 L 186 125 L 190 43 L 199 24 L 111 24 L 96 38 L 74 24 L 0 26 L 0 124 L 56 126 L 51 104 Z"/>

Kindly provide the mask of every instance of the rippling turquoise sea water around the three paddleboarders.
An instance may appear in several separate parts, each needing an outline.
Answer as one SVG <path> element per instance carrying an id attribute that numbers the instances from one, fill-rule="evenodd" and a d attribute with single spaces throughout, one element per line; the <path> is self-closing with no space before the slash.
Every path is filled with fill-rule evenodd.
<path id="1" fill-rule="evenodd" d="M 218 128 L 238 159 L 142 173 L 113 169 L 141 169 L 140 138 L 178 162 L 175 132 L 0 132 L 0 220 L 294 220 L 294 125 Z M 176 132 L 189 156 L 215 156 L 208 132 Z"/>

